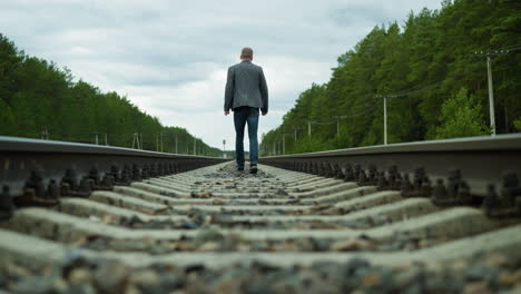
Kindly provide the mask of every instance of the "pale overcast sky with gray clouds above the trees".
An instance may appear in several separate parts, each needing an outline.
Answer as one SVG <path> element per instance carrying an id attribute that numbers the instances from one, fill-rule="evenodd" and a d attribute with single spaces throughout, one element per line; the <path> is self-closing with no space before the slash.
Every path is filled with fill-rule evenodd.
<path id="1" fill-rule="evenodd" d="M 227 67 L 240 48 L 264 68 L 277 127 L 298 94 L 330 79 L 336 58 L 374 26 L 441 0 L 1 0 L 0 32 L 19 49 L 69 68 L 102 91 L 126 95 L 164 125 L 207 144 L 235 144 L 223 114 Z M 246 139 L 247 147 L 247 139 Z"/>

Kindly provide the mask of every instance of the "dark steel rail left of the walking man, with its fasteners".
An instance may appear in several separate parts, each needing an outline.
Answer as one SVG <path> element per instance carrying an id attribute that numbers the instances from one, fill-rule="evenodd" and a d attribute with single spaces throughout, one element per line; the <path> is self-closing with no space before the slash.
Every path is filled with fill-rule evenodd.
<path id="1" fill-rule="evenodd" d="M 28 189 L 39 198 L 56 198 L 57 193 L 63 193 L 63 183 L 69 186 L 65 193 L 88 194 L 87 186 L 90 190 L 110 188 L 224 160 L 227 159 L 0 136 L 0 202 L 24 195 Z M 52 193 L 55 197 L 49 195 Z"/>

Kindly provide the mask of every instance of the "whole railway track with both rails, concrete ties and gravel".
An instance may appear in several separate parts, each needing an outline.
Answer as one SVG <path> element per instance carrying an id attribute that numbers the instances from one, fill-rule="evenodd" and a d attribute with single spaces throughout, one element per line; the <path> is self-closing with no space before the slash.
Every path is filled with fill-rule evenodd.
<path id="1" fill-rule="evenodd" d="M 0 292 L 518 293 L 521 136 L 216 158 L 0 138 Z M 518 292 L 517 292 L 518 291 Z"/>

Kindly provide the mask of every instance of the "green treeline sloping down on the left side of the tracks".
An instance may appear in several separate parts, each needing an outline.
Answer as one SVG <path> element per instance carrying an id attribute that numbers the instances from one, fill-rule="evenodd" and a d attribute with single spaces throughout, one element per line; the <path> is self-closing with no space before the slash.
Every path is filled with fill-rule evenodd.
<path id="1" fill-rule="evenodd" d="M 0 135 L 220 156 L 186 129 L 165 127 L 117 92 L 73 81 L 0 33 Z M 194 147 L 195 146 L 195 147 Z"/>

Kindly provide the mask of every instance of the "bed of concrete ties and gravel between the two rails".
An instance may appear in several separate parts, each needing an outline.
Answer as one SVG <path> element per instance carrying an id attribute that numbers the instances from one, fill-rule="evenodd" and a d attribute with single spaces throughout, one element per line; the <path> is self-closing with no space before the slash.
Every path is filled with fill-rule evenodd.
<path id="1" fill-rule="evenodd" d="M 105 293 L 521 286 L 517 217 L 376 183 L 258 169 L 222 163 L 19 207 L 0 222 L 0 290 L 22 282 Z"/>

